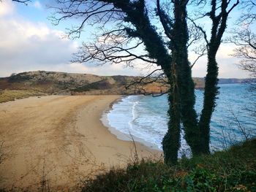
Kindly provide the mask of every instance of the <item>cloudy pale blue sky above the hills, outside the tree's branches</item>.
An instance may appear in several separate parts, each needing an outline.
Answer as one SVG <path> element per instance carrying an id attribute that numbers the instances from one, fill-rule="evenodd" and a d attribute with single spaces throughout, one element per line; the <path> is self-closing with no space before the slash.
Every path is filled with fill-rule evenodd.
<path id="1" fill-rule="evenodd" d="M 66 28 L 72 23 L 67 21 L 53 26 L 48 17 L 50 0 L 31 1 L 29 4 L 18 4 L 11 0 L 0 2 L 0 77 L 12 73 L 29 71 L 53 71 L 89 73 L 98 75 L 143 75 L 148 70 L 138 67 L 131 69 L 120 64 L 96 66 L 91 64 L 71 63 L 72 53 L 78 51 L 82 41 L 90 37 L 90 31 L 80 39 L 64 38 Z M 92 28 L 89 28 L 93 30 Z M 246 78 L 246 72 L 238 69 L 238 59 L 233 58 L 234 45 L 222 44 L 217 61 L 219 77 Z M 193 60 L 195 55 L 189 53 Z M 200 58 L 192 69 L 193 77 L 206 76 L 206 57 Z"/>

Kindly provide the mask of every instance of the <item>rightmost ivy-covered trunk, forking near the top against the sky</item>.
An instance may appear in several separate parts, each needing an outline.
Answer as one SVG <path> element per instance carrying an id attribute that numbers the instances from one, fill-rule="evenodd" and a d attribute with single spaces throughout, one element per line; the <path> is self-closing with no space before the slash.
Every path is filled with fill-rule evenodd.
<path id="1" fill-rule="evenodd" d="M 203 110 L 200 115 L 200 120 L 198 126 L 200 128 L 200 142 L 201 142 L 201 153 L 207 154 L 210 153 L 209 144 L 210 144 L 210 123 L 211 115 L 214 112 L 216 106 L 216 99 L 218 91 L 218 73 L 219 68 L 216 61 L 217 51 L 219 45 L 222 42 L 222 36 L 227 28 L 227 17 L 234 7 L 239 4 L 237 0 L 230 9 L 227 7 L 230 4 L 230 1 L 222 0 L 220 1 L 221 11 L 217 14 L 217 0 L 211 0 L 211 12 L 208 13 L 209 17 L 212 20 L 211 27 L 211 39 L 208 43 L 208 64 L 207 64 L 207 74 L 206 74 L 206 85 L 203 98 Z"/>

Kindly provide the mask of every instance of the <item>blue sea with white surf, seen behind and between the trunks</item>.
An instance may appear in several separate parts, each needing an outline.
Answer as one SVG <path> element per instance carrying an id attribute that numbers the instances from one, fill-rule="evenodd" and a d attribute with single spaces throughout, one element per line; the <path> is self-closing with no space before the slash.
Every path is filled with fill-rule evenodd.
<path id="1" fill-rule="evenodd" d="M 234 143 L 256 135 L 256 122 L 247 108 L 256 101 L 249 96 L 249 85 L 219 85 L 219 99 L 211 119 L 211 150 L 222 150 Z M 195 110 L 200 115 L 203 91 L 196 90 Z M 124 135 L 135 137 L 148 146 L 162 150 L 162 138 L 167 132 L 167 96 L 126 96 L 113 104 L 106 114 L 108 125 Z M 190 155 L 181 131 L 179 156 Z"/>

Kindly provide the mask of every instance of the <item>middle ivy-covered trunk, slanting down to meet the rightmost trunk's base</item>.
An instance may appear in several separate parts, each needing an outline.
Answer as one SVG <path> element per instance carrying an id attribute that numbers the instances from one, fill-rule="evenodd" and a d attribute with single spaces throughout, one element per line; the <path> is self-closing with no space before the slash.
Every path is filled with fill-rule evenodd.
<path id="1" fill-rule="evenodd" d="M 181 95 L 181 122 L 184 126 L 185 139 L 192 149 L 192 154 L 200 153 L 200 130 L 197 126 L 195 105 L 195 85 L 188 61 L 187 42 L 189 32 L 187 28 L 187 1 L 175 1 L 175 23 L 173 26 L 173 55 L 179 66 L 179 92 Z"/>

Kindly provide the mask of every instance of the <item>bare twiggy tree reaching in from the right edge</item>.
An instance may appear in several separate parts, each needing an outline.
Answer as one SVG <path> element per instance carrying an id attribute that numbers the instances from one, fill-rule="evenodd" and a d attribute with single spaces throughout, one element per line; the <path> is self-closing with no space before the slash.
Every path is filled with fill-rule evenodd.
<path id="1" fill-rule="evenodd" d="M 246 110 L 251 112 L 252 118 L 256 118 L 256 34 L 254 32 L 256 24 L 256 3 L 255 1 L 244 0 L 241 3 L 243 12 L 233 29 L 233 36 L 228 39 L 236 45 L 233 56 L 240 58 L 239 67 L 245 72 L 249 72 L 252 80 L 249 80 L 250 89 L 247 96 L 252 97 Z"/>

